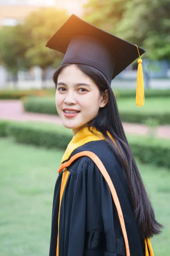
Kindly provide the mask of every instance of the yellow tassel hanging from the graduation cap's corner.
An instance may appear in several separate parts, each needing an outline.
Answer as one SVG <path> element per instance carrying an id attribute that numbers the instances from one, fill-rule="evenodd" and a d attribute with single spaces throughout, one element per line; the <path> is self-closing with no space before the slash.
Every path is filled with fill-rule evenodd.
<path id="1" fill-rule="evenodd" d="M 136 45 L 136 47 L 137 47 L 137 45 Z M 137 47 L 137 49 L 138 49 L 138 47 Z M 138 49 L 138 53 L 139 53 L 139 49 Z M 139 54 L 139 60 L 138 60 L 136 105 L 139 107 L 142 107 L 144 105 L 144 79 L 143 79 L 143 70 L 142 70 L 142 59 L 140 57 L 140 54 Z"/>

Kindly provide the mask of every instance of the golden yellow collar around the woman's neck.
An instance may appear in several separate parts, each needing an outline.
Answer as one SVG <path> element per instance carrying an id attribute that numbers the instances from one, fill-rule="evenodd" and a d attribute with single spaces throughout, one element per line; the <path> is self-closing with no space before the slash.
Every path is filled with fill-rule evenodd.
<path id="1" fill-rule="evenodd" d="M 88 143 L 90 141 L 105 140 L 104 135 L 101 132 L 97 131 L 96 128 L 93 127 L 92 131 L 95 131 L 95 133 L 97 135 L 92 134 L 91 131 L 88 130 L 88 127 L 84 127 L 81 130 L 79 130 L 77 132 L 77 134 L 75 134 L 73 136 L 71 142 L 68 144 L 68 146 L 65 150 L 65 153 L 61 160 L 61 163 L 63 163 L 65 160 L 67 160 L 76 148 L 79 148 L 80 146 L 84 145 L 85 143 Z M 109 135 L 109 137 L 111 137 L 111 135 L 109 133 L 108 133 L 108 135 Z M 113 137 L 111 137 L 111 139 L 115 143 Z"/>

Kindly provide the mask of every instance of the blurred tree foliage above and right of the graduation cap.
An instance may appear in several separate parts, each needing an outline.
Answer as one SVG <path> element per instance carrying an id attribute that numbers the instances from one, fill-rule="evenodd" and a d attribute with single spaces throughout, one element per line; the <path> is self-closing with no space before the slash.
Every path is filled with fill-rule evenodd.
<path id="1" fill-rule="evenodd" d="M 150 59 L 170 60 L 169 0 L 89 0 L 85 19 L 146 49 Z"/>

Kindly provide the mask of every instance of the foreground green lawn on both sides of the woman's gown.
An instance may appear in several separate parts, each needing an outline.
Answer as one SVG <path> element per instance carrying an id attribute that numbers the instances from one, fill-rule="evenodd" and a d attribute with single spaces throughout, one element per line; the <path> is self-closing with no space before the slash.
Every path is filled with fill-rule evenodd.
<path id="1" fill-rule="evenodd" d="M 0 139 L 0 256 L 47 256 L 57 169 L 63 151 Z M 139 165 L 158 221 L 155 256 L 170 251 L 170 171 Z"/>

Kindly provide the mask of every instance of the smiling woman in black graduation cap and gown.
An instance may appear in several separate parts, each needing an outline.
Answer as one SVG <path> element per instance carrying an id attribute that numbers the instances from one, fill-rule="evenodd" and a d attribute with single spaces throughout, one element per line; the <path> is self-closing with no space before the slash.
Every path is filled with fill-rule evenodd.
<path id="1" fill-rule="evenodd" d="M 149 238 L 162 226 L 111 89 L 111 80 L 137 58 L 136 46 L 75 15 L 47 46 L 65 53 L 54 73 L 56 107 L 74 134 L 54 190 L 50 256 L 152 256 Z M 122 64 L 125 52 L 130 58 Z"/>

